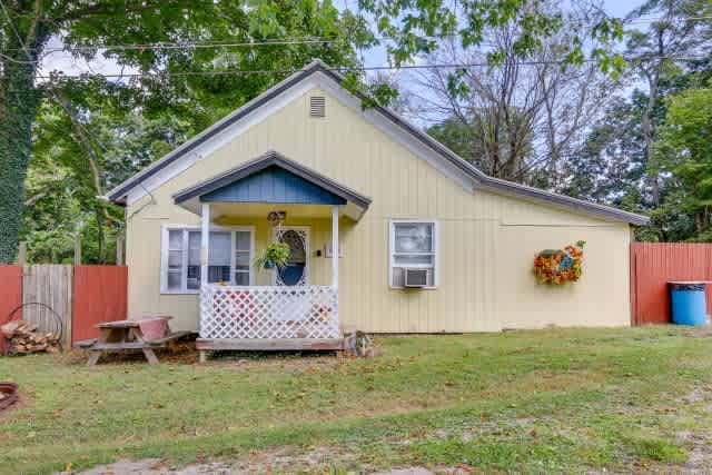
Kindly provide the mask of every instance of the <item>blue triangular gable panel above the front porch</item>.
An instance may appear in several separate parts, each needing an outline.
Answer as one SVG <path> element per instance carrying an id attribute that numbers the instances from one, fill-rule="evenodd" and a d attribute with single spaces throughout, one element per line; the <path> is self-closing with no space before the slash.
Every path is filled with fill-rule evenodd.
<path id="1" fill-rule="evenodd" d="M 346 205 L 346 199 L 276 165 L 209 191 L 200 201 Z"/>

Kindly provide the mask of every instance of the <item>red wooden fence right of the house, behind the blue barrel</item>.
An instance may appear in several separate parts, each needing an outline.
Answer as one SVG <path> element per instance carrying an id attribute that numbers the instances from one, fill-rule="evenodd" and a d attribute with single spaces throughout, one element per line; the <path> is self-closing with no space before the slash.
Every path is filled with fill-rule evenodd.
<path id="1" fill-rule="evenodd" d="M 631 323 L 668 324 L 671 280 L 711 280 L 712 245 L 634 243 L 631 245 Z M 712 288 L 708 286 L 708 313 Z"/>

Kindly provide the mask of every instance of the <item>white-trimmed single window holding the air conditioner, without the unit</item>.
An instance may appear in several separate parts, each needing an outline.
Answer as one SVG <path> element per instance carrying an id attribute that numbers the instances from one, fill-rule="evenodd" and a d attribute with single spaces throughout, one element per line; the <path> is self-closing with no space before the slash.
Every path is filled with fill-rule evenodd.
<path id="1" fill-rule="evenodd" d="M 433 220 L 390 221 L 390 286 L 405 286 L 405 270 L 427 270 L 427 287 L 435 287 L 437 270 L 437 222 Z"/>

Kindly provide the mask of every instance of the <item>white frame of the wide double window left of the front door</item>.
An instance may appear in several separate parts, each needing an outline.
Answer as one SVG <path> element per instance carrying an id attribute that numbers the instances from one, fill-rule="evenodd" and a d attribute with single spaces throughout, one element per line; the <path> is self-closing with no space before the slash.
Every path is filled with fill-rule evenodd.
<path id="1" fill-rule="evenodd" d="M 169 231 L 184 231 L 182 235 L 182 264 L 180 276 L 180 289 L 168 288 L 168 247 Z M 200 232 L 200 226 L 195 225 L 162 225 L 161 226 L 161 244 L 160 244 L 160 293 L 168 295 L 191 295 L 199 294 L 200 289 L 188 288 L 188 232 Z M 255 267 L 253 266 L 253 259 L 255 258 L 255 226 L 210 226 L 210 231 L 228 231 L 230 232 L 230 285 L 235 285 L 236 260 L 237 260 L 237 239 L 235 238 L 236 231 L 249 231 L 249 285 L 255 285 Z M 184 271 L 185 269 L 185 271 Z"/>

